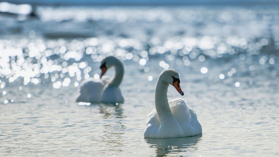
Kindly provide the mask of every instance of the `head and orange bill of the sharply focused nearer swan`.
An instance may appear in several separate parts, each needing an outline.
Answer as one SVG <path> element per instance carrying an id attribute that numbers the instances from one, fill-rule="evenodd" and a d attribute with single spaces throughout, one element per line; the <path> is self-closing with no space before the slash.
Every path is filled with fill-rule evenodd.
<path id="1" fill-rule="evenodd" d="M 166 83 L 173 85 L 179 94 L 184 95 L 184 92 L 180 87 L 179 73 L 176 70 L 164 70 L 159 77 L 161 77 Z"/>

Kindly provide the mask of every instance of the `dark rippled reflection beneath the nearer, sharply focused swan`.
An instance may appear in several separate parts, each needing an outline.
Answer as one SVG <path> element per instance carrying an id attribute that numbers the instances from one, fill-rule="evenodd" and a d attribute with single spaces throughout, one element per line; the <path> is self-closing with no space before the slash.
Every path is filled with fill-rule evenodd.
<path id="1" fill-rule="evenodd" d="M 167 156 L 168 153 L 175 154 L 197 149 L 196 144 L 202 140 L 202 134 L 182 137 L 182 138 L 147 138 L 145 141 L 150 144 L 151 148 L 156 148 L 156 156 Z M 181 154 L 181 153 L 180 153 Z"/>

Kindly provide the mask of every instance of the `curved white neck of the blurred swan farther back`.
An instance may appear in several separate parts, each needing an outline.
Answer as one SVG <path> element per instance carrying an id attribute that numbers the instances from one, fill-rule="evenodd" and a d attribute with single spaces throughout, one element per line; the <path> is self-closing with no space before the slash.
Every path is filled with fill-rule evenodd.
<path id="1" fill-rule="evenodd" d="M 108 84 L 109 87 L 118 87 L 121 84 L 124 75 L 124 67 L 121 62 L 117 62 L 114 65 L 115 77 Z"/>

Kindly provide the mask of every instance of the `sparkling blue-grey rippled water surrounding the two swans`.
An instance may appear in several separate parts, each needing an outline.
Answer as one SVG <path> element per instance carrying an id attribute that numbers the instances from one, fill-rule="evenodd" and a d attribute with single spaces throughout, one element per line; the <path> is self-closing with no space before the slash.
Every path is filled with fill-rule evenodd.
<path id="1" fill-rule="evenodd" d="M 278 156 L 278 7 L 40 7 L 1 15 L 2 156 Z M 26 19 L 27 18 L 27 19 Z M 124 104 L 79 105 L 107 55 L 124 60 Z M 158 75 L 202 135 L 144 138 Z M 107 75 L 113 76 L 110 69 Z"/>

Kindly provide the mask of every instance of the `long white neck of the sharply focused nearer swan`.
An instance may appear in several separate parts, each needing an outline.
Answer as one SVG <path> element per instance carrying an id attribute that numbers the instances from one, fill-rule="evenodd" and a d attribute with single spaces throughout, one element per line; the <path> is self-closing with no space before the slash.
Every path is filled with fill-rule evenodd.
<path id="1" fill-rule="evenodd" d="M 165 118 L 173 117 L 167 98 L 168 87 L 169 84 L 159 77 L 155 90 L 155 106 L 160 122 Z"/>

